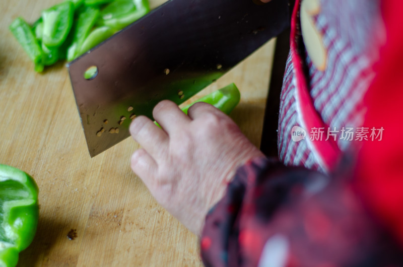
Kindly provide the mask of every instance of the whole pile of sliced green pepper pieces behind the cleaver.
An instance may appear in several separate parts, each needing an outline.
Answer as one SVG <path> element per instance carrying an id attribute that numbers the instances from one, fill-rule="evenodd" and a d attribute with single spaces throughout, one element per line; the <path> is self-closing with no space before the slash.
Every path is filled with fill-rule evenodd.
<path id="1" fill-rule="evenodd" d="M 32 27 L 22 18 L 10 30 L 35 63 L 35 71 L 57 60 L 71 61 L 150 11 L 148 0 L 64 0 Z"/>

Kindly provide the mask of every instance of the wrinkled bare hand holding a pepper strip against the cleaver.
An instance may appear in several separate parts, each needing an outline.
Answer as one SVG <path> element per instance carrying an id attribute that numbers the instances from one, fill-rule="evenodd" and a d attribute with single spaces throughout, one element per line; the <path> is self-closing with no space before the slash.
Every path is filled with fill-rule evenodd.
<path id="1" fill-rule="evenodd" d="M 130 125 L 131 136 L 142 147 L 133 153 L 131 168 L 161 206 L 199 235 L 237 167 L 263 154 L 210 104 L 195 103 L 186 115 L 163 100 L 153 116 L 162 129 L 145 116 Z"/>

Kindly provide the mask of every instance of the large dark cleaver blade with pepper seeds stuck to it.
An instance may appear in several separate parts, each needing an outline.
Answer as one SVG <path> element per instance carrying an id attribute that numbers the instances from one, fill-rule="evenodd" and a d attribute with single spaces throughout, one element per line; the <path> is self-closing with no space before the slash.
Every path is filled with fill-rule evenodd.
<path id="1" fill-rule="evenodd" d="M 258 1 L 258 0 L 256 0 Z M 216 81 L 290 25 L 287 0 L 169 0 L 68 64 L 91 157 Z"/>

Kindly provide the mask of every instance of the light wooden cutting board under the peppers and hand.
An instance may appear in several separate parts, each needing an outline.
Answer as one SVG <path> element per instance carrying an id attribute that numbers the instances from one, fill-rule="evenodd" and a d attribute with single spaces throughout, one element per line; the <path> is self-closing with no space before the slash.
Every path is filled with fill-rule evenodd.
<path id="1" fill-rule="evenodd" d="M 40 190 L 38 230 L 18 265 L 202 265 L 198 238 L 132 173 L 138 144 L 128 138 L 90 158 L 65 62 L 35 73 L 10 33 L 16 17 L 32 23 L 60 1 L 0 1 L 0 163 L 30 173 Z M 150 0 L 153 8 L 163 2 Z M 242 97 L 231 116 L 256 146 L 273 49 L 268 42 L 196 96 L 234 82 Z M 73 240 L 70 231 L 77 233 Z"/>

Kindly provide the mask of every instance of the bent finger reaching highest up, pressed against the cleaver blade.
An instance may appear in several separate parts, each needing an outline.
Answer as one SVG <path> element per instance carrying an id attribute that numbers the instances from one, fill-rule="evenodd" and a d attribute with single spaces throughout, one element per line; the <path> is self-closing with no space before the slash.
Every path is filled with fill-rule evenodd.
<path id="1" fill-rule="evenodd" d="M 163 100 L 153 110 L 154 119 L 168 133 L 190 122 L 188 116 L 172 101 Z"/>

